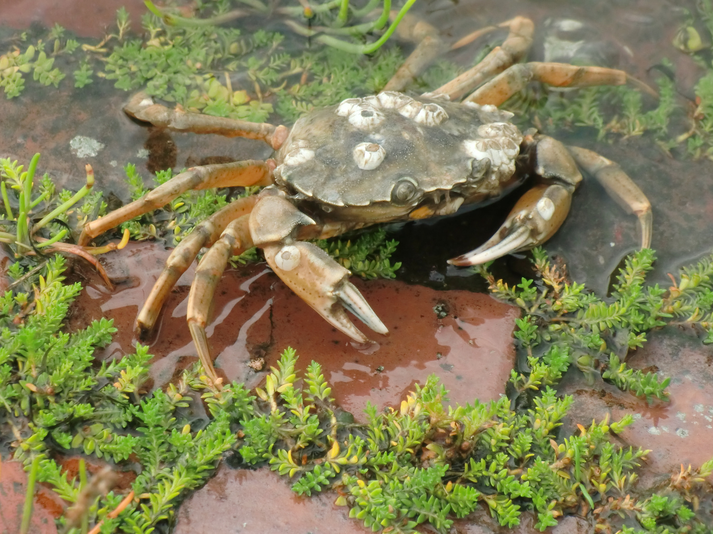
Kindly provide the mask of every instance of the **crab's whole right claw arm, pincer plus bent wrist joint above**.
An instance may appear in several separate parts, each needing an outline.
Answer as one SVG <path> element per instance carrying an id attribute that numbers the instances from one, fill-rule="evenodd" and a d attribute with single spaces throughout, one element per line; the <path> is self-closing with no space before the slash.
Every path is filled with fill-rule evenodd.
<path id="1" fill-rule="evenodd" d="M 533 173 L 540 183 L 520 197 L 491 239 L 448 263 L 479 265 L 525 251 L 543 244 L 562 226 L 570 211 L 572 194 L 582 181 L 577 164 L 565 145 L 547 135 L 528 135 L 521 147 L 530 153 Z"/>

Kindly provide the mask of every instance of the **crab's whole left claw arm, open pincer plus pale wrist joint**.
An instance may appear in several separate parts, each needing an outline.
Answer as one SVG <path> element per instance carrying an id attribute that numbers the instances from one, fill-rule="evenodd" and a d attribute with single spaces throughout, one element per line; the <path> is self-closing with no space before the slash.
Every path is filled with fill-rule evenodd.
<path id="1" fill-rule="evenodd" d="M 374 332 L 388 333 L 366 299 L 349 282 L 351 273 L 322 248 L 294 239 L 300 227 L 312 225 L 317 227 L 312 219 L 270 188 L 262 192 L 250 214 L 252 242 L 262 248 L 277 276 L 324 320 L 353 340 L 368 342 L 369 338 L 347 317 L 344 311 L 347 308 Z"/>

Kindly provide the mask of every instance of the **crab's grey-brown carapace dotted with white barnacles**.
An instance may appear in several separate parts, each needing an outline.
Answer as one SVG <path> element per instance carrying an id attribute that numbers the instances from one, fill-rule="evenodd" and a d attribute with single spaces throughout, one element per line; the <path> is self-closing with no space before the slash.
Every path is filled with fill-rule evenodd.
<path id="1" fill-rule="evenodd" d="M 510 117 L 401 93 L 350 98 L 297 120 L 275 155 L 275 182 L 327 212 L 369 206 L 362 220 L 397 219 L 426 203 L 446 214 L 512 185 L 523 135 Z"/>

